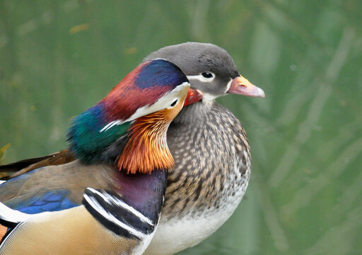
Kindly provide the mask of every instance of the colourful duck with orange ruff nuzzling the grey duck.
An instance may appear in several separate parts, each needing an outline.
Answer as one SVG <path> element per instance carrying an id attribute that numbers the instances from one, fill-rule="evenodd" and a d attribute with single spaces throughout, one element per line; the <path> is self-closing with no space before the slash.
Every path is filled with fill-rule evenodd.
<path id="1" fill-rule="evenodd" d="M 175 64 L 151 60 L 78 115 L 68 135 L 76 160 L 0 186 L 0 254 L 142 254 L 173 167 L 166 131 L 188 89 Z"/>

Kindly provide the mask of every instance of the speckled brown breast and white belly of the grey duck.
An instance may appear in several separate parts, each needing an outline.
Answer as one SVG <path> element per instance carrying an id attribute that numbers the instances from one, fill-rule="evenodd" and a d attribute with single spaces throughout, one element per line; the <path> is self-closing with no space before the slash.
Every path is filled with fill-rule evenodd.
<path id="1" fill-rule="evenodd" d="M 214 233 L 238 207 L 251 173 L 245 130 L 216 102 L 183 108 L 168 129 L 168 144 L 175 167 L 150 255 L 175 254 Z"/>

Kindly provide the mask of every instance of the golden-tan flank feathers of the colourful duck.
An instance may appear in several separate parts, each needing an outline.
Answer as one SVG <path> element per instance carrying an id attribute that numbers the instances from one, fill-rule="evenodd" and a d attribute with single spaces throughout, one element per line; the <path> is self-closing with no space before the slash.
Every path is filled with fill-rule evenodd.
<path id="1" fill-rule="evenodd" d="M 16 232 L 6 236 L 1 254 L 119 254 L 117 247 L 136 254 L 138 240 L 112 234 L 83 205 L 50 214 L 18 225 Z"/>

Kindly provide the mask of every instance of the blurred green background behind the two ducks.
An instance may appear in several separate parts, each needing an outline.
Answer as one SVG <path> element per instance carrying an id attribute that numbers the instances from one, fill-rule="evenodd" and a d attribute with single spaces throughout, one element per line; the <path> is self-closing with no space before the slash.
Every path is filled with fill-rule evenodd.
<path id="1" fill-rule="evenodd" d="M 0 0 L 1 163 L 66 147 L 70 118 L 149 52 L 212 42 L 266 98 L 218 99 L 247 130 L 252 179 L 181 254 L 361 254 L 361 13 L 359 0 Z"/>

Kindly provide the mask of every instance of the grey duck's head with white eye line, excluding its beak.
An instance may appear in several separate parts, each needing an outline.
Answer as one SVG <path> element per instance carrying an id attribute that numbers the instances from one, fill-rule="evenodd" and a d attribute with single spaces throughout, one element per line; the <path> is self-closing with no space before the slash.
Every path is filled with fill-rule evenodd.
<path id="1" fill-rule="evenodd" d="M 144 61 L 163 58 L 176 64 L 189 79 L 192 89 L 212 101 L 228 92 L 230 83 L 240 74 L 228 52 L 211 43 L 185 42 L 156 50 Z"/>

